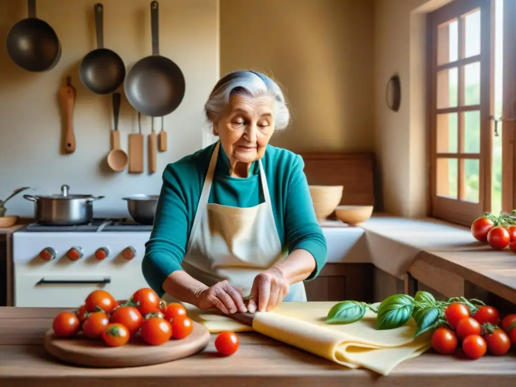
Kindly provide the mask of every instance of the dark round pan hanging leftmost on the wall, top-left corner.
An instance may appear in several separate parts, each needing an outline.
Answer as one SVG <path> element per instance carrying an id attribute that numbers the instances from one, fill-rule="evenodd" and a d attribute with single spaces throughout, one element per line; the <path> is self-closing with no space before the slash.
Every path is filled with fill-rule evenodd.
<path id="1" fill-rule="evenodd" d="M 28 18 L 14 24 L 7 34 L 7 52 L 21 68 L 47 71 L 61 58 L 61 43 L 54 29 L 36 18 L 36 0 L 28 0 Z"/>

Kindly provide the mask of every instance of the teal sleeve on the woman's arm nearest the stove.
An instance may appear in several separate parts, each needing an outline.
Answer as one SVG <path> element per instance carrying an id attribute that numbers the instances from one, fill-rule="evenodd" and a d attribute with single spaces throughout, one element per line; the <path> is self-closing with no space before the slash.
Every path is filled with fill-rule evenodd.
<path id="1" fill-rule="evenodd" d="M 170 273 L 183 270 L 187 233 L 186 199 L 173 165 L 168 165 L 141 264 L 143 277 L 160 297 L 165 294 L 162 285 Z"/>

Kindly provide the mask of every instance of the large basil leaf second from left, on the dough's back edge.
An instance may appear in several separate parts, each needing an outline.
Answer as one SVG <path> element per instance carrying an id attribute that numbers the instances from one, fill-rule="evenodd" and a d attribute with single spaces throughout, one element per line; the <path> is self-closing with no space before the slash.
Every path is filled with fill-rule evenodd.
<path id="1" fill-rule="evenodd" d="M 405 325 L 412 317 L 414 299 L 406 294 L 398 294 L 384 299 L 378 308 L 376 329 L 394 329 Z"/>

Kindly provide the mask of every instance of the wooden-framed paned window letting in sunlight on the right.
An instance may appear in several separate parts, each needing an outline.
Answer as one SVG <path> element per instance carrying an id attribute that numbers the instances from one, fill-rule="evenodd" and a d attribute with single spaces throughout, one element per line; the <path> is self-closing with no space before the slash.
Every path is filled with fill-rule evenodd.
<path id="1" fill-rule="evenodd" d="M 456 0 L 428 16 L 431 216 L 471 225 L 510 212 L 514 0 Z"/>

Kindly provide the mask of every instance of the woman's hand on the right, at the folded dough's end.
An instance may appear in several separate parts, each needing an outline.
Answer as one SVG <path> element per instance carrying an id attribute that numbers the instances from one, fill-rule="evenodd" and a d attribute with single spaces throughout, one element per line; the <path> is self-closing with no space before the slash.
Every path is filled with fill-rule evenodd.
<path id="1" fill-rule="evenodd" d="M 277 307 L 288 294 L 289 284 L 283 272 L 277 267 L 271 267 L 254 278 L 249 304 L 249 313 L 268 312 Z"/>

